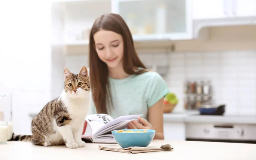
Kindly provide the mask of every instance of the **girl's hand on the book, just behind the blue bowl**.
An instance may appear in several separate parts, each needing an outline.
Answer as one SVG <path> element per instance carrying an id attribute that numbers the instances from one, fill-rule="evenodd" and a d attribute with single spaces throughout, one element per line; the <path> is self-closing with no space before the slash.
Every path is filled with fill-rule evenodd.
<path id="1" fill-rule="evenodd" d="M 146 119 L 139 117 L 138 121 L 129 122 L 127 129 L 153 129 L 153 126 Z"/>

